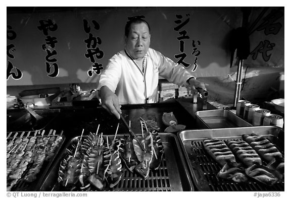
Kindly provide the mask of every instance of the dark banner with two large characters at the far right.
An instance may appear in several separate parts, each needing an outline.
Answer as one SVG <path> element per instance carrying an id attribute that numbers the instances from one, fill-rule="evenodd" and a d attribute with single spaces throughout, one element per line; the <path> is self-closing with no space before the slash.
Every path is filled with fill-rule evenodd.
<path id="1" fill-rule="evenodd" d="M 284 7 L 254 7 L 248 34 L 250 55 L 247 66 L 284 68 Z"/>

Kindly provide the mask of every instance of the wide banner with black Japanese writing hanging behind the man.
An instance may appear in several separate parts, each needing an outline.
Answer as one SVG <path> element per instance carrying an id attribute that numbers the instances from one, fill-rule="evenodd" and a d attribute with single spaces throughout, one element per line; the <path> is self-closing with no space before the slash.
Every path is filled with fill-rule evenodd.
<path id="1" fill-rule="evenodd" d="M 196 77 L 225 76 L 228 34 L 240 12 L 233 7 L 23 9 L 7 8 L 7 86 L 98 82 L 108 59 L 124 49 L 128 17 L 139 15 L 151 26 L 150 47 Z"/>

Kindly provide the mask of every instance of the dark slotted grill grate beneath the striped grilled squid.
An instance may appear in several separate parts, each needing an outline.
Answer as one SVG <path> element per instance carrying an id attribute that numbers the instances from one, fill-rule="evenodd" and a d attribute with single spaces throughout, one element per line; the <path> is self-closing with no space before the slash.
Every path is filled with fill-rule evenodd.
<path id="1" fill-rule="evenodd" d="M 239 140 L 239 139 L 236 139 Z M 193 172 L 201 177 L 201 187 L 205 191 L 282 191 L 284 182 L 267 186 L 250 180 L 248 183 L 235 183 L 218 178 L 216 175 L 221 169 L 219 164 L 210 157 L 203 148 L 202 141 L 185 141 L 190 146 L 187 155 Z M 184 144 L 185 144 L 184 142 Z M 185 146 L 185 145 L 184 145 Z M 283 152 L 282 152 L 283 153 Z"/>

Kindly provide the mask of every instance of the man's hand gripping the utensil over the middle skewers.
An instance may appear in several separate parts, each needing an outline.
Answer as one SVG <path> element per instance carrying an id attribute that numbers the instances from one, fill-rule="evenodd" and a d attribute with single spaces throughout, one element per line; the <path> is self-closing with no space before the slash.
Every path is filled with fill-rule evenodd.
<path id="1" fill-rule="evenodd" d="M 113 93 L 107 86 L 100 89 L 101 106 L 105 108 L 110 114 L 113 114 L 120 119 L 120 105 L 117 95 Z"/>

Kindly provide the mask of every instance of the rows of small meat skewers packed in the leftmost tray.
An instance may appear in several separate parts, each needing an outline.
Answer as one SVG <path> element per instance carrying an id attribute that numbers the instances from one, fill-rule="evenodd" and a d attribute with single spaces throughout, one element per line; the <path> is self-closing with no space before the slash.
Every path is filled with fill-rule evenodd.
<path id="1" fill-rule="evenodd" d="M 37 178 L 37 174 L 43 166 L 45 160 L 50 159 L 62 142 L 61 136 L 41 136 L 30 137 L 30 131 L 24 137 L 25 131 L 20 137 L 15 133 L 13 139 L 7 141 L 7 190 L 17 186 L 19 182 L 32 182 Z M 49 150 L 47 148 L 50 148 Z"/>

